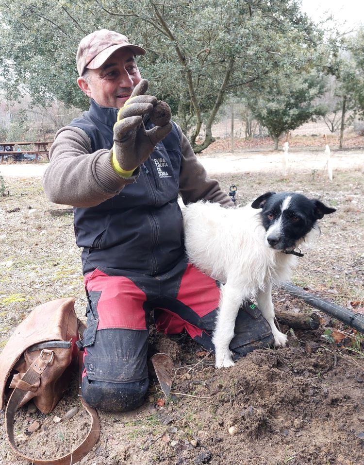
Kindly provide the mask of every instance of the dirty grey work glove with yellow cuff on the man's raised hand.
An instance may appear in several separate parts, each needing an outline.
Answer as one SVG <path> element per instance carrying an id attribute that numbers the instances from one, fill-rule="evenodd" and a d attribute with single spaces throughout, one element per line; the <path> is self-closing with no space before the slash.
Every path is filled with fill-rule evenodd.
<path id="1" fill-rule="evenodd" d="M 148 81 L 142 79 L 117 114 L 113 147 L 113 165 L 117 172 L 119 168 L 131 172 L 141 165 L 172 129 L 170 121 L 148 131 L 144 127 L 142 115 L 152 112 L 157 105 L 155 97 L 144 95 L 147 89 Z"/>

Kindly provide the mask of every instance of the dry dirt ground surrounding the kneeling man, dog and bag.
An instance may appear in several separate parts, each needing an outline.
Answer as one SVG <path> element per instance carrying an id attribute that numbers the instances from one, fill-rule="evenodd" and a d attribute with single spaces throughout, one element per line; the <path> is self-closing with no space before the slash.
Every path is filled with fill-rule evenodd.
<path id="1" fill-rule="evenodd" d="M 291 281 L 364 312 L 362 149 L 333 153 L 333 181 L 320 150 L 293 150 L 285 176 L 281 154 L 269 150 L 211 153 L 200 159 L 222 189 L 237 187 L 238 203 L 268 190 L 295 190 L 337 208 L 321 221 L 317 245 L 298 259 Z M 42 168 L 36 168 L 38 177 L 31 177 L 31 165 L 16 166 L 10 174 L 9 168 L 0 166 L 4 191 L 10 194 L 0 197 L 1 347 L 39 303 L 75 296 L 83 321 L 86 308 L 72 215 L 51 212 L 67 206 L 46 199 Z M 165 400 L 151 377 L 149 394 L 137 411 L 99 412 L 99 442 L 80 463 L 363 465 L 363 335 L 281 289 L 274 289 L 273 301 L 276 311 L 317 313 L 320 327 L 303 331 L 281 326 L 288 334 L 287 347 L 256 350 L 228 369 L 216 370 L 214 356 L 186 335 L 167 338 L 150 327 L 150 354 L 162 351 L 174 360 L 170 399 Z M 74 406 L 78 413 L 66 419 Z M 23 452 L 47 459 L 70 450 L 87 424 L 72 385 L 48 415 L 21 409 L 15 435 Z M 0 412 L 0 465 L 20 463 L 6 443 Z"/>

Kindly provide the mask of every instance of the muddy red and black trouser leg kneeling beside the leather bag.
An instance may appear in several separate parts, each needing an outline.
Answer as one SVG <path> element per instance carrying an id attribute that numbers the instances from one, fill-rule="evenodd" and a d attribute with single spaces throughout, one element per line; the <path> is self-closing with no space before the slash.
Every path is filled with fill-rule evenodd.
<path id="1" fill-rule="evenodd" d="M 91 406 L 124 412 L 139 407 L 149 387 L 145 294 L 123 276 L 85 276 L 82 395 Z"/>

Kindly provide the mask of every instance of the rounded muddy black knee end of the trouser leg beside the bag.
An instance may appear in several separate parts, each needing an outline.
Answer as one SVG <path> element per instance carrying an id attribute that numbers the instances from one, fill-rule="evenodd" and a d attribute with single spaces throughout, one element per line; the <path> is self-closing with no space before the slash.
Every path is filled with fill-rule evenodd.
<path id="1" fill-rule="evenodd" d="M 95 409 L 110 412 L 129 412 L 140 407 L 147 394 L 149 378 L 141 381 L 112 383 L 88 380 L 82 381 L 82 396 Z"/>

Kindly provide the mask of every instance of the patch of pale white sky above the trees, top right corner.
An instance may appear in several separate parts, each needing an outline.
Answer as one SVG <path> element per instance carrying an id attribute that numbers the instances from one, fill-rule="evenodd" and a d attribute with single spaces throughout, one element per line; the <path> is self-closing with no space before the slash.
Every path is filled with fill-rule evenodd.
<path id="1" fill-rule="evenodd" d="M 340 25 L 340 32 L 364 25 L 363 0 L 302 0 L 302 10 L 315 22 L 325 17 L 328 11 L 335 19 L 346 24 Z"/>

